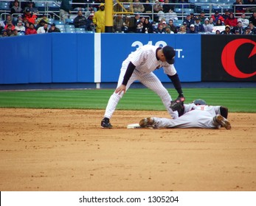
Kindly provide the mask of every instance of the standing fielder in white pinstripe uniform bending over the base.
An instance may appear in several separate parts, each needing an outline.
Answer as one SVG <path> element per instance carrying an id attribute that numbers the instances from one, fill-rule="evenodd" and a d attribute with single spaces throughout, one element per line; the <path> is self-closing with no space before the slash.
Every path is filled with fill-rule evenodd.
<path id="1" fill-rule="evenodd" d="M 181 82 L 173 65 L 175 54 L 176 51 L 171 46 L 162 48 L 152 45 L 141 46 L 139 49 L 129 54 L 126 60 L 122 62 L 117 89 L 108 100 L 105 115 L 101 121 L 101 127 L 112 128 L 109 119 L 114 113 L 123 94 L 136 80 L 139 80 L 147 88 L 153 90 L 162 99 L 166 110 L 170 113 L 172 118 L 178 118 L 178 113 L 170 109 L 170 101 L 172 100 L 170 94 L 162 85 L 162 82 L 153 74 L 154 70 L 164 68 L 165 74 L 167 74 L 173 82 L 174 87 L 179 93 L 179 97 L 183 97 Z"/>

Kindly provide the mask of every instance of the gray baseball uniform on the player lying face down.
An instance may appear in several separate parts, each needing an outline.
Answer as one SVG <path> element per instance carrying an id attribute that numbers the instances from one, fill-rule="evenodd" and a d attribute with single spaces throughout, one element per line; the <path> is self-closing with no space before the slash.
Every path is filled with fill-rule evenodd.
<path id="1" fill-rule="evenodd" d="M 156 127 L 169 128 L 218 128 L 221 127 L 213 121 L 213 117 L 221 114 L 221 106 L 208 106 L 196 104 L 184 104 L 184 115 L 176 118 L 153 117 Z"/>

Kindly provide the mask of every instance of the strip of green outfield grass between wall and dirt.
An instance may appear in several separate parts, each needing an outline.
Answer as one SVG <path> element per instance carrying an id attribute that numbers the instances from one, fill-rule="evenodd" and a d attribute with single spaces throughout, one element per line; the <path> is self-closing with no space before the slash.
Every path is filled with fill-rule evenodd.
<path id="1" fill-rule="evenodd" d="M 230 112 L 255 113 L 256 88 L 184 88 L 186 102 L 204 99 L 207 104 L 229 107 Z M 0 107 L 105 109 L 114 89 L 0 91 Z M 169 89 L 176 99 L 176 90 Z M 148 88 L 129 89 L 117 110 L 165 110 L 161 99 Z"/>

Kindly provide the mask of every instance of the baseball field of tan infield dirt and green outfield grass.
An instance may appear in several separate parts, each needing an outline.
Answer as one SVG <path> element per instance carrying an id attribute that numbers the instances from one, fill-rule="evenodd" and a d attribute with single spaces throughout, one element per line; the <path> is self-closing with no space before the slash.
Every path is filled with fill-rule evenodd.
<path id="1" fill-rule="evenodd" d="M 144 88 L 101 129 L 113 91 L 0 91 L 0 191 L 256 191 L 255 88 L 184 89 L 229 107 L 229 130 L 126 129 L 169 118 Z"/>

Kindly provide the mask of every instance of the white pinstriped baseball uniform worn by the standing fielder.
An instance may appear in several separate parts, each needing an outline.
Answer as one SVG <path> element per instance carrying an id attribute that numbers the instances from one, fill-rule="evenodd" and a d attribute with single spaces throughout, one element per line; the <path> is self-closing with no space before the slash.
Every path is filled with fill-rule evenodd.
<path id="1" fill-rule="evenodd" d="M 145 45 L 129 54 L 128 57 L 122 62 L 117 88 L 123 84 L 122 82 L 128 65 L 129 63 L 132 63 L 135 65 L 135 69 L 131 74 L 130 79 L 128 79 L 126 90 L 128 90 L 134 81 L 139 80 L 139 82 L 141 82 L 147 88 L 153 90 L 162 99 L 162 102 L 165 105 L 168 113 L 170 113 L 170 116 L 173 118 L 178 118 L 178 113 L 173 112 L 173 110 L 170 109 L 170 101 L 172 100 L 170 94 L 162 85 L 162 82 L 160 82 L 156 75 L 153 74 L 153 71 L 159 68 L 163 68 L 168 77 L 176 74 L 176 69 L 173 64 L 163 62 L 157 58 L 156 52 L 158 49 L 162 48 L 159 48 L 159 46 Z M 105 110 L 105 118 L 111 118 L 122 96 L 123 93 L 119 94 L 115 92 L 111 95 Z"/>

